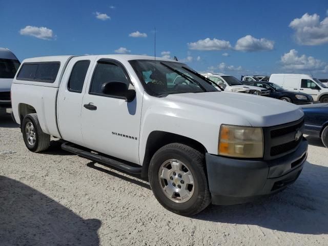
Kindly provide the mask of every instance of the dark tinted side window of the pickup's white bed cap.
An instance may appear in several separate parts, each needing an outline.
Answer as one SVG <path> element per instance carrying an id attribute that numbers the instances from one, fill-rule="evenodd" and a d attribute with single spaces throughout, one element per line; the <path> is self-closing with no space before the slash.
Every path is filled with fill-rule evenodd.
<path id="1" fill-rule="evenodd" d="M 59 67 L 59 61 L 24 63 L 18 72 L 17 79 L 54 83 Z"/>

